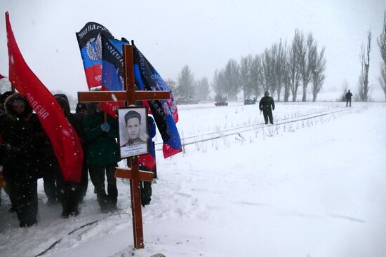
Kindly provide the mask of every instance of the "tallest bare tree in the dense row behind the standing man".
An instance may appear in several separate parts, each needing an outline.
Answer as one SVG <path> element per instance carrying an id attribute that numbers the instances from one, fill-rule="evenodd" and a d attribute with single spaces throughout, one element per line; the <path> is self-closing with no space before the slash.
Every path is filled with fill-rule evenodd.
<path id="1" fill-rule="evenodd" d="M 288 71 L 289 71 L 289 83 L 292 92 L 292 102 L 296 101 L 296 94 L 298 93 L 299 83 L 300 83 L 300 65 L 298 51 L 296 50 L 300 41 L 299 31 L 295 29 L 295 36 L 293 36 L 293 41 L 291 47 L 288 49 Z"/>

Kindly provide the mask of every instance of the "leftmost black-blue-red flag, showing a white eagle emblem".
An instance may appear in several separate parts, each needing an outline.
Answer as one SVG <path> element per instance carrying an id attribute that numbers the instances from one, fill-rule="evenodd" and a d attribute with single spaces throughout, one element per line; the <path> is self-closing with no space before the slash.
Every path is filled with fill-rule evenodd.
<path id="1" fill-rule="evenodd" d="M 96 22 L 88 22 L 80 32 L 76 33 L 88 88 L 102 84 L 102 35 L 106 39 L 114 39 L 108 29 Z"/>

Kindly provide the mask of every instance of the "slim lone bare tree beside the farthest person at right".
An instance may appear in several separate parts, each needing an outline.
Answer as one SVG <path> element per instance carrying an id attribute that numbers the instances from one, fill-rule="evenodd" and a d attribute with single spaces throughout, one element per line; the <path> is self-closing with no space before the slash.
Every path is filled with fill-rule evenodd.
<path id="1" fill-rule="evenodd" d="M 368 100 L 368 69 L 370 68 L 371 30 L 367 32 L 367 46 L 361 46 L 361 76 L 359 77 L 359 97 L 361 101 Z"/>

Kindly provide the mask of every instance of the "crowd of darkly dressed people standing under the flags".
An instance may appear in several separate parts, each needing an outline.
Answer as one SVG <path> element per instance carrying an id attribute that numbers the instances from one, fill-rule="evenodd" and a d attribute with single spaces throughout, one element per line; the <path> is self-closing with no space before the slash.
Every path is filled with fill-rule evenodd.
<path id="1" fill-rule="evenodd" d="M 79 204 L 88 188 L 88 174 L 102 213 L 117 209 L 114 172 L 121 160 L 117 119 L 106 116 L 100 103 L 78 103 L 72 113 L 66 95 L 54 97 L 81 140 L 84 161 L 79 183 L 64 180 L 51 141 L 27 99 L 11 91 L 0 97 L 0 175 L 4 181 L 0 190 L 4 185 L 11 202 L 8 211 L 17 214 L 20 227 L 37 223 L 38 179 L 43 179 L 46 204 L 62 205 L 62 218 L 79 214 Z M 142 205 L 149 204 L 148 184 L 142 185 L 141 193 Z"/>

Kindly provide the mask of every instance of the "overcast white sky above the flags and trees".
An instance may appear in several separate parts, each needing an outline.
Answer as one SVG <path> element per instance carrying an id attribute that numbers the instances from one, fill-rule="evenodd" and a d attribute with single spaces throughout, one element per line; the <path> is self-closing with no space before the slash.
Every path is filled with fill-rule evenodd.
<path id="1" fill-rule="evenodd" d="M 292 41 L 296 28 L 326 46 L 325 88 L 343 81 L 357 88 L 359 53 L 371 29 L 370 85 L 379 88 L 385 0 L 215 1 L 0 1 L 0 74 L 8 76 L 4 13 L 22 55 L 49 90 L 75 95 L 87 90 L 75 32 L 98 22 L 117 38 L 133 39 L 163 78 L 177 78 L 188 64 L 195 78 L 225 66 L 229 58 L 261 53 L 279 39 Z"/>

